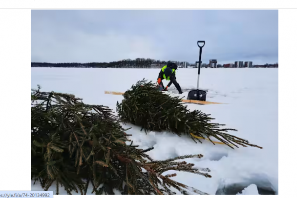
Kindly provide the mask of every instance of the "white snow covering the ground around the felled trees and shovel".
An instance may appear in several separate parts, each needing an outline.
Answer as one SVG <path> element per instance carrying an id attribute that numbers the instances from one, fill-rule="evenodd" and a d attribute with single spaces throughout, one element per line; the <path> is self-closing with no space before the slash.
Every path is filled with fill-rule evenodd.
<path id="1" fill-rule="evenodd" d="M 207 100 L 227 104 L 185 105 L 191 110 L 211 114 L 214 122 L 238 130 L 231 134 L 263 149 L 240 147 L 233 150 L 206 140 L 196 144 L 188 137 L 180 138 L 172 133 L 149 132 L 146 135 L 139 127 L 127 124 L 125 128 L 132 126 L 127 131 L 132 134 L 130 139 L 143 149 L 153 146 L 148 154 L 154 159 L 202 154 L 203 158 L 186 161 L 196 167 L 210 168 L 212 178 L 182 172 L 173 178 L 202 192 L 215 195 L 220 189 L 240 184 L 246 188 L 243 193 L 256 195 L 256 185 L 278 194 L 278 69 L 226 68 L 201 69 L 200 72 L 199 86 L 207 90 Z M 155 82 L 158 73 L 159 69 L 31 68 L 31 88 L 40 84 L 43 91 L 75 94 L 85 103 L 106 105 L 116 111 L 116 103 L 123 97 L 104 94 L 104 91 L 125 92 L 138 80 L 145 78 Z M 176 77 L 184 91 L 181 96 L 187 98 L 189 90 L 195 89 L 197 84 L 197 69 L 179 68 Z M 173 84 L 169 91 L 179 96 Z M 54 186 L 51 188 L 55 192 Z M 40 187 L 34 185 L 32 189 Z M 241 191 L 234 195 L 237 193 Z"/>

